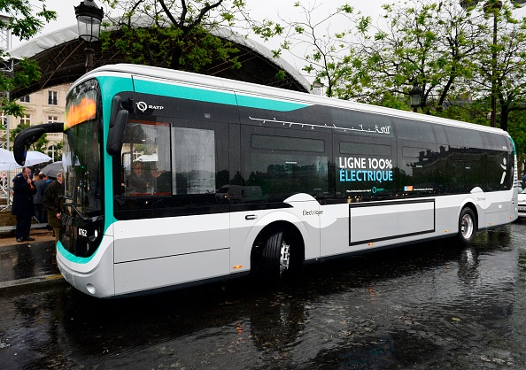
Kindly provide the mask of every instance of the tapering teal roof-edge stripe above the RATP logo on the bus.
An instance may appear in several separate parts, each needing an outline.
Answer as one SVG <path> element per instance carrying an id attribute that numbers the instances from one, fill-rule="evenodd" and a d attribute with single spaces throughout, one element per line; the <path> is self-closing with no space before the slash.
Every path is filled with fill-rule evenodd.
<path id="1" fill-rule="evenodd" d="M 143 94 L 158 94 L 181 99 L 196 100 L 199 102 L 239 105 L 248 108 L 258 108 L 278 112 L 290 112 L 309 106 L 285 102 L 282 100 L 268 99 L 256 96 L 236 95 L 233 91 L 215 91 L 209 89 L 190 88 L 188 86 L 171 85 L 158 81 L 145 81 L 134 79 L 135 92 Z"/>

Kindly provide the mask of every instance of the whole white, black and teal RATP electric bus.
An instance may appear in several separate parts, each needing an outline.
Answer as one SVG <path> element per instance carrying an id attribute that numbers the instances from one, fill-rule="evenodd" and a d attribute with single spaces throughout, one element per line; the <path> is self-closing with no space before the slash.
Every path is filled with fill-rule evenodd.
<path id="1" fill-rule="evenodd" d="M 120 64 L 75 81 L 64 124 L 20 133 L 17 160 L 52 131 L 65 141 L 58 267 L 93 297 L 275 284 L 517 219 L 514 142 L 494 127 Z"/>

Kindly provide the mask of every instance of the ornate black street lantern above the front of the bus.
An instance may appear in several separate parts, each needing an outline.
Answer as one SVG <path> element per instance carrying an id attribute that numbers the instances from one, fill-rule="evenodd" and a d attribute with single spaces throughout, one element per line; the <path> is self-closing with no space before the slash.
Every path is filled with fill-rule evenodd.
<path id="1" fill-rule="evenodd" d="M 91 42 L 98 41 L 100 35 L 100 24 L 104 17 L 104 11 L 95 4 L 94 0 L 84 0 L 79 6 L 74 6 L 79 37 L 86 42 L 86 72 L 93 69 L 93 55 L 95 50 Z"/>

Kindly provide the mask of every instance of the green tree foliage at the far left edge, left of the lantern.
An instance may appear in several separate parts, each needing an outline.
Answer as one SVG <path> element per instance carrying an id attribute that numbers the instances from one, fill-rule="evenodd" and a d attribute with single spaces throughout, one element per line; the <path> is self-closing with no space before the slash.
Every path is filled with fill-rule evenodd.
<path id="1" fill-rule="evenodd" d="M 35 36 L 51 19 L 57 18 L 57 13 L 46 8 L 45 0 L 38 0 L 42 3 L 42 9 L 33 12 L 35 6 L 29 4 L 28 0 L 6 0 L 0 1 L 0 13 L 7 14 L 9 21 L 0 19 L 0 28 L 11 30 L 12 35 L 22 40 L 28 40 Z M 4 61 L 9 60 L 6 50 L 0 50 L 0 58 Z M 11 91 L 15 87 L 27 87 L 31 82 L 40 79 L 40 70 L 35 61 L 22 59 L 19 61 L 17 73 L 12 72 L 12 66 L 4 62 L 0 70 L 0 91 Z M 7 115 L 20 117 L 24 108 L 17 104 L 11 96 L 3 94 L 0 97 L 0 111 Z"/>

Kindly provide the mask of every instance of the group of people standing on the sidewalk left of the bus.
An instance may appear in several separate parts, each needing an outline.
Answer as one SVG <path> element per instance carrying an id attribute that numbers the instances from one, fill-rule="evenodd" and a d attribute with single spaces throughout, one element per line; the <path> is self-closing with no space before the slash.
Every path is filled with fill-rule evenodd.
<path id="1" fill-rule="evenodd" d="M 32 174 L 31 167 L 23 167 L 12 180 L 12 214 L 17 217 L 17 242 L 35 240 L 29 235 L 34 218 L 39 223 L 49 224 L 58 242 L 64 174 L 59 171 L 55 178 L 44 173 Z"/>

